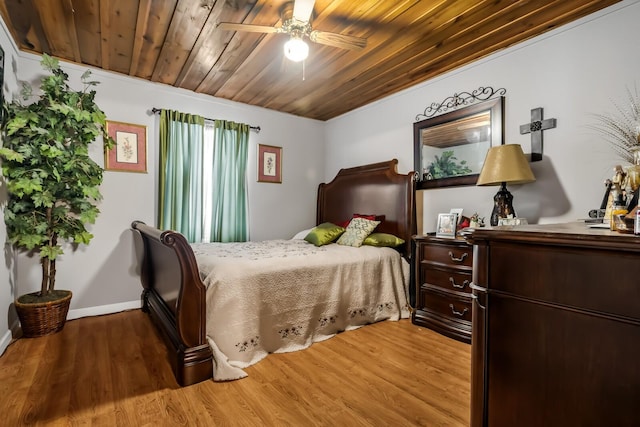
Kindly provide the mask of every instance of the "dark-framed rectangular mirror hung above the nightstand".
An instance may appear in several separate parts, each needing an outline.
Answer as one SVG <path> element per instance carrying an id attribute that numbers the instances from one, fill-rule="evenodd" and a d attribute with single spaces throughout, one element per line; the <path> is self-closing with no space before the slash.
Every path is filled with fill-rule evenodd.
<path id="1" fill-rule="evenodd" d="M 504 97 L 413 124 L 416 188 L 475 185 L 489 147 L 504 137 Z"/>

